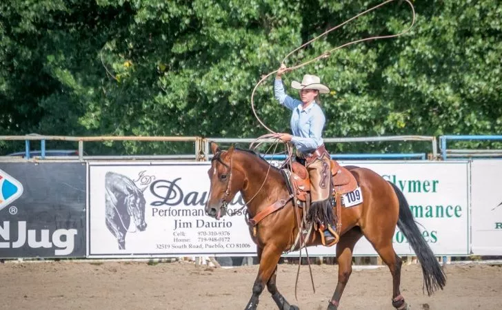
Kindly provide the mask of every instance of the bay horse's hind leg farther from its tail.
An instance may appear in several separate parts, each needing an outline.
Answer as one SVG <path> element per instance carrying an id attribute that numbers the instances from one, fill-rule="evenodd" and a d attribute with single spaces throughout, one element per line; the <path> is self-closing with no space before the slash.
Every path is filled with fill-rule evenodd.
<path id="1" fill-rule="evenodd" d="M 338 309 L 341 295 L 345 289 L 345 285 L 347 285 L 350 273 L 352 273 L 352 251 L 361 236 L 363 236 L 361 229 L 354 227 L 343 234 L 340 242 L 337 244 L 338 283 L 328 305 L 329 310 Z"/>

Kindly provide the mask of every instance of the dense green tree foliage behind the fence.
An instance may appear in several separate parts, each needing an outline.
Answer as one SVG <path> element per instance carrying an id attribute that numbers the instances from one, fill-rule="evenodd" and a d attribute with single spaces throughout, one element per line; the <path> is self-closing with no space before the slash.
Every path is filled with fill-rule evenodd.
<path id="1" fill-rule="evenodd" d="M 259 136 L 265 130 L 252 114 L 250 94 L 261 76 L 297 46 L 377 3 L 2 1 L 0 131 Z M 323 97 L 325 136 L 501 132 L 502 3 L 424 0 L 414 6 L 416 24 L 405 36 L 351 45 L 284 76 L 289 86 L 311 72 L 331 87 Z M 390 3 L 315 41 L 287 65 L 355 39 L 401 32 L 410 21 L 405 2 Z M 274 102 L 272 79 L 259 87 L 257 110 L 274 130 L 288 131 L 290 113 Z M 191 147 L 95 143 L 92 149 Z"/>

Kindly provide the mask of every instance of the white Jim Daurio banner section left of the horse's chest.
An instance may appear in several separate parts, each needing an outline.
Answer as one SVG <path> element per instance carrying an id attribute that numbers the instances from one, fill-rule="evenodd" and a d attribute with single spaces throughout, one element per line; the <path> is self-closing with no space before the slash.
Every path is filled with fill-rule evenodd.
<path id="1" fill-rule="evenodd" d="M 209 167 L 89 163 L 89 256 L 255 254 L 242 213 L 205 216 Z"/>

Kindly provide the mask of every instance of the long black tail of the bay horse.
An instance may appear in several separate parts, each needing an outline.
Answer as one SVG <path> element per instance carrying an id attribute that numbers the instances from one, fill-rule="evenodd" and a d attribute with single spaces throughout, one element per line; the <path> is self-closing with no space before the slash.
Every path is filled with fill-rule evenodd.
<path id="1" fill-rule="evenodd" d="M 401 232 L 415 251 L 416 257 L 419 258 L 423 271 L 423 285 L 430 296 L 434 291 L 443 289 L 446 285 L 445 273 L 436 260 L 434 253 L 432 253 L 432 249 L 430 249 L 427 242 L 422 238 L 420 229 L 416 226 L 410 205 L 408 205 L 403 192 L 394 183 L 389 183 L 394 188 L 394 192 L 399 199 L 399 220 L 397 221 L 397 227 L 401 229 Z"/>

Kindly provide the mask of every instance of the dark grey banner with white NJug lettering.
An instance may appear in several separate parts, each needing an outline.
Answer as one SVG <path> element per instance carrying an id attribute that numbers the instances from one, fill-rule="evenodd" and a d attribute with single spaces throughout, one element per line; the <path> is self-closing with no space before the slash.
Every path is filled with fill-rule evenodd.
<path id="1" fill-rule="evenodd" d="M 86 256 L 86 165 L 0 163 L 0 258 Z"/>

